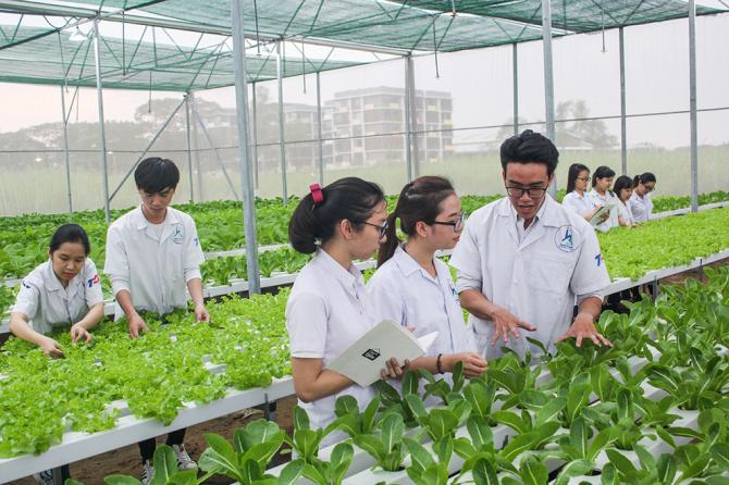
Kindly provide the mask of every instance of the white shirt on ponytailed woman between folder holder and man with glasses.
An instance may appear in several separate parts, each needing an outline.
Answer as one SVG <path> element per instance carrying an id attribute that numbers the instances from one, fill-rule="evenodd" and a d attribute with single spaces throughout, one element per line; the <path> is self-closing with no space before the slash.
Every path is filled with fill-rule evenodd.
<path id="1" fill-rule="evenodd" d="M 397 247 L 367 284 L 370 301 L 380 320 L 413 326 L 417 337 L 437 331 L 438 337 L 427 356 L 474 352 L 475 341 L 464 320 L 450 271 L 437 258 L 433 263 L 436 277 Z"/>

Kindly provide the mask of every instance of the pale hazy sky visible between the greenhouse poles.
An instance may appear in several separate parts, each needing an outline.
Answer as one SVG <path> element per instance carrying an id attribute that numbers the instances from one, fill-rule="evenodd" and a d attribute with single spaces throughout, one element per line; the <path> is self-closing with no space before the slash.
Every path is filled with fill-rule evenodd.
<path id="1" fill-rule="evenodd" d="M 0 16 L 0 23 L 3 22 Z M 86 27 L 84 27 L 86 28 Z M 114 25 L 102 35 L 114 35 Z M 197 39 L 197 38 L 196 38 Z M 184 39 L 189 40 L 191 39 Z M 210 38 L 206 41 L 220 41 Z M 608 30 L 555 39 L 555 103 L 584 100 L 590 116 L 616 116 L 620 113 L 618 33 Z M 729 108 L 729 14 L 697 20 L 697 102 L 699 108 Z M 295 54 L 293 46 L 288 49 Z M 307 48 L 307 55 L 325 57 L 329 49 Z M 626 85 L 629 114 L 688 110 L 689 43 L 688 21 L 626 28 Z M 372 60 L 363 52 L 337 51 L 335 57 Z M 433 55 L 417 58 L 417 89 L 448 91 L 454 100 L 454 127 L 474 128 L 507 123 L 512 116 L 511 47 L 479 49 L 437 55 L 438 75 Z M 519 116 L 528 122 L 544 120 L 543 54 L 541 42 L 518 47 Z M 357 87 L 404 87 L 401 59 L 376 62 L 321 74 L 322 99 Z M 265 83 L 275 97 L 275 82 Z M 316 104 L 314 76 L 284 80 L 284 101 Z M 61 117 L 58 86 L 0 84 L 0 132 L 14 132 Z M 149 99 L 146 91 L 104 91 L 107 120 L 131 121 L 134 109 Z M 152 95 L 155 98 L 178 94 Z M 200 99 L 234 107 L 233 88 L 200 91 Z M 97 120 L 96 92 L 83 89 L 73 121 Z M 729 142 L 729 109 L 700 114 L 700 144 Z M 629 145 L 651 142 L 666 148 L 689 144 L 688 114 L 632 117 Z M 619 122 L 607 121 L 608 129 L 619 137 Z M 489 137 L 495 130 L 471 129 L 458 133 L 457 141 Z"/>

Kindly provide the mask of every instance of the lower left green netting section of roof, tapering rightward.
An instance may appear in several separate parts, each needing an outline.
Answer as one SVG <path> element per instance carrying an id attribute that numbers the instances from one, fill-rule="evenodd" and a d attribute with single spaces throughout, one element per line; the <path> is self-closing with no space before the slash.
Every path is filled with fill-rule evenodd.
<path id="1" fill-rule="evenodd" d="M 1 26 L 8 32 L 9 26 Z M 28 38 L 37 28 L 21 27 Z M 198 49 L 170 47 L 149 41 L 125 41 L 101 37 L 101 77 L 104 87 L 188 91 L 235 84 L 233 53 L 225 41 Z M 73 41 L 66 33 L 44 36 L 0 50 L 0 82 L 66 84 L 96 87 L 91 37 Z M 275 55 L 250 52 L 246 59 L 248 82 L 276 78 Z M 356 65 L 356 62 L 286 59 L 286 76 Z"/>

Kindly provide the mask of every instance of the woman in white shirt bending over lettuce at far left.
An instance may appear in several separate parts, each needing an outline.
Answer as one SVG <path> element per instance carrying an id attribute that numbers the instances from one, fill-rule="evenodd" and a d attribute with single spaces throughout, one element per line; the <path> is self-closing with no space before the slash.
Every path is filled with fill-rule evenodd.
<path id="1" fill-rule="evenodd" d="M 40 347 L 49 357 L 63 358 L 63 349 L 47 334 L 71 326 L 72 341 L 91 341 L 89 331 L 103 318 L 103 296 L 86 231 L 77 224 L 55 229 L 48 247 L 48 261 L 30 272 L 17 293 L 10 313 L 10 332 Z M 65 476 L 69 475 L 64 467 Z M 33 475 L 53 485 L 52 470 Z"/>

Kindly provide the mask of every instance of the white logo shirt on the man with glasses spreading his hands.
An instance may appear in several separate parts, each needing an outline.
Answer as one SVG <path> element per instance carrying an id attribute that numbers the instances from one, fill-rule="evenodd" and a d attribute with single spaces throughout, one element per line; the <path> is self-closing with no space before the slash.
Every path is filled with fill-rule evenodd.
<path id="1" fill-rule="evenodd" d="M 569 328 L 577 297 L 598 293 L 610 283 L 595 232 L 582 216 L 555 202 L 548 195 L 539 221 L 519 240 L 517 212 L 508 198 L 477 210 L 466 223 L 450 258 L 458 270 L 456 289 L 479 289 L 493 303 L 534 325 L 509 337 L 511 349 L 522 355 L 526 339 L 542 341 L 554 351 L 556 339 Z M 469 315 L 479 352 L 486 359 L 503 355 L 504 341 L 491 347 L 494 325 Z"/>

